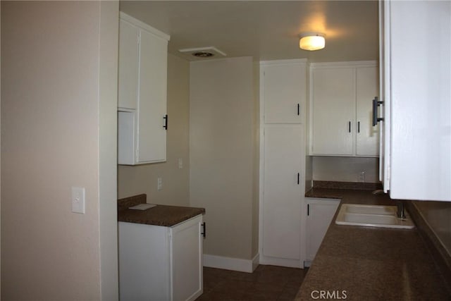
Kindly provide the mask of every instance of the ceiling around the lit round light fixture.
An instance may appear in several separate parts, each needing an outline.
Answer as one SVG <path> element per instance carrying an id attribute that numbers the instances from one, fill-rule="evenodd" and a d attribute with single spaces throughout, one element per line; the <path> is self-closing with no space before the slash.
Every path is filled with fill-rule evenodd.
<path id="1" fill-rule="evenodd" d="M 378 59 L 377 1 L 121 1 L 120 9 L 171 35 L 169 52 L 216 47 L 255 61 Z M 326 48 L 299 49 L 302 32 L 326 34 Z"/>

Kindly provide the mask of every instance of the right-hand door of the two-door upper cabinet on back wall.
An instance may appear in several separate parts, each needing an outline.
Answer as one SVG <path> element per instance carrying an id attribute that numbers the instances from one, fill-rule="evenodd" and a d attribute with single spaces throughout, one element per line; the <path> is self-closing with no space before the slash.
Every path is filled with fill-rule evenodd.
<path id="1" fill-rule="evenodd" d="M 379 125 L 373 126 L 372 99 L 378 96 L 378 68 L 360 67 L 356 69 L 357 81 L 357 156 L 378 156 Z"/>

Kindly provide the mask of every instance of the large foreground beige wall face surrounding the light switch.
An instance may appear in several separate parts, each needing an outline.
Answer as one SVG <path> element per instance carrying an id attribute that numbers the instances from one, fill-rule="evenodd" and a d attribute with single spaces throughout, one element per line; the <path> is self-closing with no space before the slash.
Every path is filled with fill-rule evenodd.
<path id="1" fill-rule="evenodd" d="M 99 39 L 99 30 L 114 30 L 110 17 L 118 8 L 117 2 L 104 7 L 95 1 L 1 1 L 3 300 L 101 300 L 106 294 L 99 199 L 114 196 L 116 183 L 100 184 L 99 173 L 111 166 L 99 157 L 115 156 L 104 144 L 115 138 L 99 135 L 116 133 L 102 121 L 116 116 L 108 113 L 115 99 L 105 94 L 116 83 L 105 79 L 99 86 L 105 67 L 99 55 L 114 39 Z M 107 65 L 114 69 L 116 62 Z M 109 111 L 99 118 L 99 108 Z M 86 189 L 85 214 L 71 212 L 73 186 Z"/>

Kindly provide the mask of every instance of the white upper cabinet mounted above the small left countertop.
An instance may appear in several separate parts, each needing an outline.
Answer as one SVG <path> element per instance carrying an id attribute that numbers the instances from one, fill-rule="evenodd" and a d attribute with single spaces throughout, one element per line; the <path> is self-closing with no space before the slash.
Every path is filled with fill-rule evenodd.
<path id="1" fill-rule="evenodd" d="M 118 164 L 166 161 L 169 36 L 121 13 Z"/>

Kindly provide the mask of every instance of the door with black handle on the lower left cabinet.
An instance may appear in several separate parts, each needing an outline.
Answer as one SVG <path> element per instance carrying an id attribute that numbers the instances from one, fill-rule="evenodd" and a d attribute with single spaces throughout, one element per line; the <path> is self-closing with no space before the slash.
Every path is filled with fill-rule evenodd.
<path id="1" fill-rule="evenodd" d="M 203 292 L 202 215 L 171 229 L 172 299 L 195 300 Z"/>

